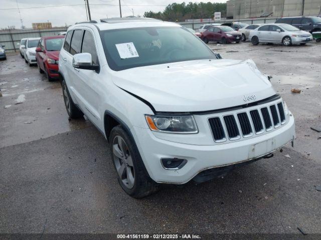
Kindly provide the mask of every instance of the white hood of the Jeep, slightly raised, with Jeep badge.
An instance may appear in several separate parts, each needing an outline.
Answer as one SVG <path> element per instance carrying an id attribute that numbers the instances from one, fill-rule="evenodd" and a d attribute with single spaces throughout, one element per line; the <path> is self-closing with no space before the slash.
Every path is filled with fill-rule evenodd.
<path id="1" fill-rule="evenodd" d="M 203 59 L 118 71 L 113 82 L 156 111 L 207 111 L 242 105 L 275 94 L 251 60 Z M 255 94 L 254 99 L 243 99 Z"/>

